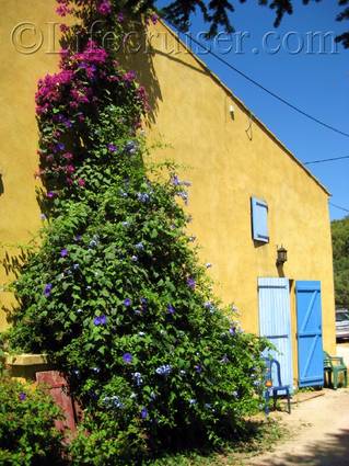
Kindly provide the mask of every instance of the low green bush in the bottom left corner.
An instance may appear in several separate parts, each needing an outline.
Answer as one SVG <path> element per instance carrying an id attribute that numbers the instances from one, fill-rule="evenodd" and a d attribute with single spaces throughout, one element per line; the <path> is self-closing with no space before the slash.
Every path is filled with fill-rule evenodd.
<path id="1" fill-rule="evenodd" d="M 62 433 L 54 424 L 60 416 L 42 389 L 0 378 L 0 464 L 62 465 Z"/>

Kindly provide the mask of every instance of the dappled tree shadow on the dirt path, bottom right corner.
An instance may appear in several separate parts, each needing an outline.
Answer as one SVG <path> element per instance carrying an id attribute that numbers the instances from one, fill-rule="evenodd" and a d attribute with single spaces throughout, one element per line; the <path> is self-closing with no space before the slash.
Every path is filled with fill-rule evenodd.
<path id="1" fill-rule="evenodd" d="M 274 455 L 276 456 L 276 454 Z M 279 458 L 266 458 L 259 466 L 310 465 L 310 466 L 347 466 L 349 464 L 349 429 L 327 434 L 321 442 L 307 445 L 307 452 L 287 453 Z"/>

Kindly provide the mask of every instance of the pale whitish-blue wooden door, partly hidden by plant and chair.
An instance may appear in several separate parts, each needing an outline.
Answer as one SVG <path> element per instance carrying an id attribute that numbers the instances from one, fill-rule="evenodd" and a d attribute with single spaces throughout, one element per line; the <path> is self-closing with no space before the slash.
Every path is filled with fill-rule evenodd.
<path id="1" fill-rule="evenodd" d="M 280 362 L 281 382 L 293 389 L 291 309 L 288 279 L 258 279 L 259 334 L 277 349 L 269 351 Z M 267 354 L 264 354 L 267 356 Z M 277 380 L 275 380 L 277 383 Z"/>

